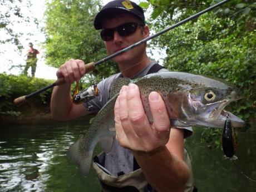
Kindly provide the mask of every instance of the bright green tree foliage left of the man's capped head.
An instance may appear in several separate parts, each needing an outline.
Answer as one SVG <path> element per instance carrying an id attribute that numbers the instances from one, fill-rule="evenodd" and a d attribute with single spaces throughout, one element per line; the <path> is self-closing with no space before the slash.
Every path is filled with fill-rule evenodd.
<path id="1" fill-rule="evenodd" d="M 99 11 L 99 1 L 47 1 L 46 61 L 60 67 L 65 61 L 76 58 L 96 62 L 106 57 L 106 50 L 93 19 Z M 112 62 L 98 66 L 93 75 L 110 76 L 118 70 Z"/>

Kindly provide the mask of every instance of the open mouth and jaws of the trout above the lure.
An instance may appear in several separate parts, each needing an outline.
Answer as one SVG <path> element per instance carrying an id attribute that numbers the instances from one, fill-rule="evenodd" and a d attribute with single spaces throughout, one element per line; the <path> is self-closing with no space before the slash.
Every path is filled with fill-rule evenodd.
<path id="1" fill-rule="evenodd" d="M 238 100 L 238 99 L 237 99 Z M 214 122 L 216 126 L 223 127 L 227 117 L 229 117 L 232 126 L 235 127 L 244 127 L 245 122 L 239 117 L 232 114 L 232 112 L 225 111 L 224 108 L 232 102 L 231 100 L 223 100 L 218 102 L 218 106 L 216 106 L 211 114 L 209 115 L 209 119 Z M 217 104 L 217 103 L 216 103 Z"/>

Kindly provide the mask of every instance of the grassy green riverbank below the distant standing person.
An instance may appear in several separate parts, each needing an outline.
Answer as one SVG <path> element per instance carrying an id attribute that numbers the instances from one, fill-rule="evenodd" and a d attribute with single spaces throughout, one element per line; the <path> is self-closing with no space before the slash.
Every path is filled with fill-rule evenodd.
<path id="1" fill-rule="evenodd" d="M 11 116 L 21 116 L 18 107 L 13 104 L 17 97 L 28 95 L 53 81 L 27 76 L 14 76 L 0 73 L 0 113 Z M 47 90 L 35 97 L 42 105 L 50 105 L 51 90 Z"/>

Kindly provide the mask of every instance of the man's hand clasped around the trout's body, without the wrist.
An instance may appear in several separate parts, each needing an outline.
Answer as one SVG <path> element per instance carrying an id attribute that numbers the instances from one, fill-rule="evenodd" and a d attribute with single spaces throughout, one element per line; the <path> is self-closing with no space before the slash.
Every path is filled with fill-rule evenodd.
<path id="1" fill-rule="evenodd" d="M 134 151 L 152 151 L 169 141 L 170 120 L 163 99 L 149 95 L 154 123 L 150 125 L 140 99 L 139 87 L 123 86 L 115 104 L 116 137 L 119 144 Z"/>

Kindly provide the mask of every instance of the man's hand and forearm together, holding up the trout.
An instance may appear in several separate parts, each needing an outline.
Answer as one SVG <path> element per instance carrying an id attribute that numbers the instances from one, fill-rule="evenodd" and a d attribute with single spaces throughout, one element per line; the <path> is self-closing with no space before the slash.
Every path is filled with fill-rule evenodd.
<path id="1" fill-rule="evenodd" d="M 183 130 L 171 129 L 159 93 L 149 95 L 154 119 L 150 125 L 140 100 L 139 88 L 124 86 L 115 105 L 117 140 L 131 149 L 146 179 L 157 191 L 184 191 L 189 168 L 183 161 Z M 122 110 L 119 110 L 122 109 Z"/>

